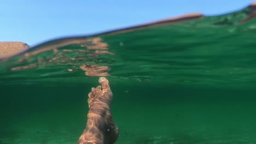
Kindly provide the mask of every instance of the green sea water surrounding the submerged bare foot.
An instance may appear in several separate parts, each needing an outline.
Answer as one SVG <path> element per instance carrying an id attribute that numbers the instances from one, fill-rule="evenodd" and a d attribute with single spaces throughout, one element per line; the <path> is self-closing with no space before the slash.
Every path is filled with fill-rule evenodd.
<path id="1" fill-rule="evenodd" d="M 54 40 L 3 61 L 0 143 L 77 142 L 104 75 L 117 143 L 256 143 L 256 21 L 238 24 L 247 14 Z"/>

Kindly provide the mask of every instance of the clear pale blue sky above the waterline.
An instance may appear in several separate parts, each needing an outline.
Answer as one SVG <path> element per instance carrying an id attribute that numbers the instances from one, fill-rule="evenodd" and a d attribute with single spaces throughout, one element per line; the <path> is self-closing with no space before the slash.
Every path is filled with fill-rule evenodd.
<path id="1" fill-rule="evenodd" d="M 0 41 L 46 40 L 124 28 L 187 13 L 219 15 L 252 0 L 3 0 Z"/>

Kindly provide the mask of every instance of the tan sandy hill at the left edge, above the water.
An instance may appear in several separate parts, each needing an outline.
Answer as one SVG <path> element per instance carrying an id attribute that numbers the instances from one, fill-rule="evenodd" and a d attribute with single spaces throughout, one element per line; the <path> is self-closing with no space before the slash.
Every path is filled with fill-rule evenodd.
<path id="1" fill-rule="evenodd" d="M 30 47 L 28 44 L 18 41 L 0 42 L 0 57 L 15 55 L 16 53 L 28 49 L 28 47 Z"/>

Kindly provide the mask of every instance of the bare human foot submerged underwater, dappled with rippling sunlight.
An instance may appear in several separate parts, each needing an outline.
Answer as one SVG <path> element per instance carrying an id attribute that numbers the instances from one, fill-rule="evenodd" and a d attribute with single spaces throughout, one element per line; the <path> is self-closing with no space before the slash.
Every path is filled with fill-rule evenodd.
<path id="1" fill-rule="evenodd" d="M 112 144 L 117 141 L 119 131 L 113 122 L 110 105 L 113 93 L 105 77 L 100 77 L 101 86 L 92 88 L 89 93 L 89 112 L 85 130 L 78 144 Z"/>

